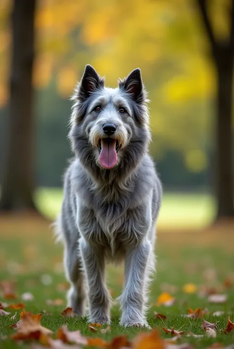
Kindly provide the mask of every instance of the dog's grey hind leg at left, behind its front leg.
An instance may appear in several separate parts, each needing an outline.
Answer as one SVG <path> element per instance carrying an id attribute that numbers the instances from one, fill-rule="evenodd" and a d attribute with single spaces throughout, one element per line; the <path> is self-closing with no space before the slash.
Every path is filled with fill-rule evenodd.
<path id="1" fill-rule="evenodd" d="M 78 256 L 78 244 L 73 246 L 65 246 L 64 264 L 67 279 L 71 283 L 68 291 L 68 306 L 78 316 L 85 315 L 85 288 L 84 275 L 81 271 L 81 260 Z"/>

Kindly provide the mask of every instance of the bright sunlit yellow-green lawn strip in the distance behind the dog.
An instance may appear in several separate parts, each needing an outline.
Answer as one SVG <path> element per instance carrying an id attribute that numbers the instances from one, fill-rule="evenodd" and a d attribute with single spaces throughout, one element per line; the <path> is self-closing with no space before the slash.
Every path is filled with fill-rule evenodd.
<path id="1" fill-rule="evenodd" d="M 54 219 L 62 202 L 62 189 L 41 188 L 36 192 L 39 210 Z M 215 215 L 214 199 L 208 194 L 164 193 L 159 228 L 201 228 Z"/>

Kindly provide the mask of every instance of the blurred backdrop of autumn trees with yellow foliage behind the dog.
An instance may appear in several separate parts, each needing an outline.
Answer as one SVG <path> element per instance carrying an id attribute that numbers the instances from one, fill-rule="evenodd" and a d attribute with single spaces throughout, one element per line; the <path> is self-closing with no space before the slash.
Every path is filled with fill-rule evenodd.
<path id="1" fill-rule="evenodd" d="M 118 77 L 137 66 L 142 69 L 151 100 L 151 154 L 165 191 L 213 193 L 218 203 L 217 218 L 233 216 L 232 4 L 232 0 L 38 0 L 32 78 L 36 99 L 32 112 L 29 99 L 26 114 L 30 120 L 25 128 L 23 119 L 27 116 L 12 109 L 12 89 L 8 89 L 13 67 L 9 62 L 14 50 L 10 22 L 14 3 L 2 0 L 1 207 L 19 208 L 16 197 L 10 199 L 8 206 L 4 203 L 4 198 L 9 198 L 4 193 L 10 193 L 4 188 L 11 182 L 14 185 L 8 188 L 14 188 L 14 193 L 16 185 L 22 189 L 22 173 L 28 183 L 25 188 L 31 192 L 28 198 L 33 196 L 33 182 L 36 186 L 61 186 L 67 158 L 71 156 L 66 139 L 71 107 L 68 99 L 84 65 L 90 63 L 106 75 L 107 84 L 113 87 Z M 26 42 L 22 45 L 25 49 Z M 20 57 L 13 54 L 12 58 L 19 63 Z M 31 137 L 23 137 L 25 145 L 27 142 L 24 154 L 20 155 L 21 143 L 17 157 L 14 152 L 16 163 L 24 169 L 21 174 L 13 171 L 12 178 L 6 155 L 11 154 L 12 138 L 8 139 L 6 129 L 10 127 L 9 119 L 17 125 L 17 117 L 22 117 L 22 123 L 14 127 L 16 135 L 16 129 L 23 137 L 24 132 L 34 124 L 35 127 L 28 133 Z M 34 206 L 32 199 L 23 200 L 26 206 Z"/>

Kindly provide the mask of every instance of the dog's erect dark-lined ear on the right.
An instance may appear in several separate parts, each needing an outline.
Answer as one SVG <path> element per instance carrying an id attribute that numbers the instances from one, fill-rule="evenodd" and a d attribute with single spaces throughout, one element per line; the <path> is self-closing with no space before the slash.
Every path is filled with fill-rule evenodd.
<path id="1" fill-rule="evenodd" d="M 119 80 L 119 88 L 124 89 L 131 98 L 141 102 L 144 100 L 144 85 L 141 78 L 141 70 L 134 69 L 126 78 Z"/>

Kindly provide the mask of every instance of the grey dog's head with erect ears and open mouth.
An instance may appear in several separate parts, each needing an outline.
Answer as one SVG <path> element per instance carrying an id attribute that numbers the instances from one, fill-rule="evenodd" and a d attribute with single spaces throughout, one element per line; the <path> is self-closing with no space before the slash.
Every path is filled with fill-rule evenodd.
<path id="1" fill-rule="evenodd" d="M 104 78 L 86 65 L 72 97 L 72 148 L 88 169 L 126 170 L 141 160 L 150 141 L 141 71 L 135 69 L 119 80 L 116 89 L 106 88 L 104 83 Z"/>

